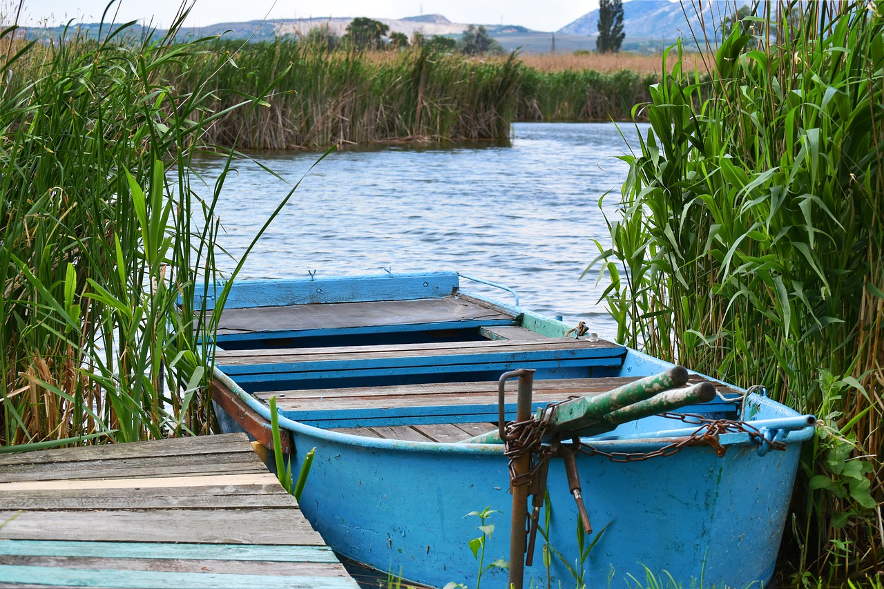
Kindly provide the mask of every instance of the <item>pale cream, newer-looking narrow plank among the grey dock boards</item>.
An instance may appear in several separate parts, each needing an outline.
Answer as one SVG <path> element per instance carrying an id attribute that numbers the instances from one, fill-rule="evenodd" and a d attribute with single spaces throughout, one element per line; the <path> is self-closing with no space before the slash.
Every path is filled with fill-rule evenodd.
<path id="1" fill-rule="evenodd" d="M 268 489 L 278 486 L 278 479 L 267 470 L 248 474 L 200 475 L 194 477 L 154 477 L 154 478 L 77 478 L 56 480 L 23 480 L 0 483 L 0 493 L 13 491 L 60 491 L 74 489 L 144 489 L 187 488 L 201 486 L 263 486 Z M 282 489 L 281 486 L 278 486 Z M 285 491 L 283 491 L 285 493 Z"/>

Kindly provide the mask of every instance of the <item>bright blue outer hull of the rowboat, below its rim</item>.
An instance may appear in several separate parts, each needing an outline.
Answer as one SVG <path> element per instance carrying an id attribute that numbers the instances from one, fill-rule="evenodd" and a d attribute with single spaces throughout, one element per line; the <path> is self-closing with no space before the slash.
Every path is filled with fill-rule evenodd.
<path id="1" fill-rule="evenodd" d="M 783 415 L 781 405 L 755 401 L 754 417 Z M 502 447 L 379 440 L 301 424 L 288 430 L 295 467 L 316 448 L 301 509 L 341 555 L 426 585 L 473 586 L 479 565 L 469 540 L 482 533 L 478 518 L 468 514 L 490 508 L 500 513 L 487 522 L 494 531 L 484 564 L 507 559 L 512 496 Z M 628 432 L 629 425 L 623 430 Z M 630 577 L 644 579 L 648 571 L 685 586 L 700 579 L 706 586 L 766 584 L 786 522 L 800 441 L 807 435 L 791 432 L 784 451 L 763 456 L 745 434 L 725 440 L 723 457 L 705 445 L 629 463 L 578 455 L 593 526 L 584 546 L 598 534 L 583 560 L 575 501 L 562 461 L 553 459 L 547 487 L 552 585 L 573 585 L 576 573 L 587 586 L 607 584 L 609 578 L 617 586 Z M 624 453 L 647 453 L 667 444 L 584 441 L 598 450 Z M 544 513 L 540 519 L 543 524 Z M 524 586 L 547 583 L 544 544 L 538 534 Z M 484 578 L 505 583 L 506 576 L 506 571 L 491 570 Z"/>

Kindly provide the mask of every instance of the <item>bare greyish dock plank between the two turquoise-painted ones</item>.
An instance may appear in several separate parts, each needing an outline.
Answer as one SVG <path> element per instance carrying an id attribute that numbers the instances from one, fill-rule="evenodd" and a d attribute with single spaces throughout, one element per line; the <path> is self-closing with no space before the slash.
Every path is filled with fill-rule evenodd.
<path id="1" fill-rule="evenodd" d="M 184 560 L 163 558 L 107 558 L 15 555 L 4 556 L 3 564 L 65 569 L 161 570 L 165 572 L 223 573 L 234 575 L 283 575 L 286 577 L 346 578 L 344 565 L 331 562 L 268 562 L 229 560 Z M 320 585 L 322 586 L 322 585 Z"/>

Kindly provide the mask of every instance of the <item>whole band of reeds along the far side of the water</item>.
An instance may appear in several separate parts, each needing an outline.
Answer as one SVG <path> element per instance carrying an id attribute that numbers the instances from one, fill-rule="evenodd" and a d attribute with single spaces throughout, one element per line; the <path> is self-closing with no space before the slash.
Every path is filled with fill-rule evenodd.
<path id="1" fill-rule="evenodd" d="M 232 64 L 220 67 L 213 93 L 225 109 L 241 93 L 289 73 L 274 85 L 269 105 L 246 118 L 234 111 L 207 129 L 210 142 L 240 149 L 326 149 L 385 142 L 506 140 L 519 121 L 631 120 L 650 99 L 653 73 L 627 69 L 571 69 L 592 63 L 515 54 L 465 57 L 430 47 L 406 50 L 330 50 L 294 42 L 223 43 Z M 229 52 L 229 53 L 228 53 Z M 646 63 L 644 58 L 644 62 Z M 555 67 L 556 61 L 568 67 Z M 613 60 L 604 60 L 610 67 Z M 193 84 L 182 78 L 186 88 Z"/>

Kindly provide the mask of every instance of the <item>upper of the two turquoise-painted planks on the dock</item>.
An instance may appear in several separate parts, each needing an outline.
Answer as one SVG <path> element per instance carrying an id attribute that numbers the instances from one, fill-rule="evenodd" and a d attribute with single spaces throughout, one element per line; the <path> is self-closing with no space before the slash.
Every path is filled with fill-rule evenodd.
<path id="1" fill-rule="evenodd" d="M 330 547 L 249 544 L 163 544 L 157 542 L 80 542 L 0 540 L 0 555 L 174 558 L 180 560 L 338 562 Z"/>

